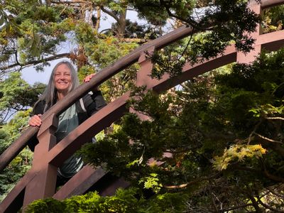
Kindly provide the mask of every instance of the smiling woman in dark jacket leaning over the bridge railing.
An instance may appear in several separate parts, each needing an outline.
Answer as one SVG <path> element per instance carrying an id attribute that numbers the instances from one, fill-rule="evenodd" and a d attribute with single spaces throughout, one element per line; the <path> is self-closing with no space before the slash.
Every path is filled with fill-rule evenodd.
<path id="1" fill-rule="evenodd" d="M 88 82 L 93 75 L 85 78 Z M 33 107 L 33 116 L 28 124 L 30 126 L 41 125 L 41 115 L 48 111 L 56 102 L 63 99 L 69 92 L 79 86 L 77 72 L 70 62 L 59 62 L 51 72 L 48 87 L 45 89 L 42 97 Z M 80 101 L 73 104 L 59 115 L 58 129 L 55 132 L 57 142 L 67 136 L 73 129 L 82 124 L 89 116 L 99 111 L 106 105 L 102 93 L 94 89 L 93 94 L 86 94 Z M 28 142 L 31 151 L 34 151 L 35 145 L 38 144 L 37 138 Z M 72 178 L 83 167 L 83 161 L 80 156 L 72 155 L 58 168 L 58 183 L 62 185 Z"/>

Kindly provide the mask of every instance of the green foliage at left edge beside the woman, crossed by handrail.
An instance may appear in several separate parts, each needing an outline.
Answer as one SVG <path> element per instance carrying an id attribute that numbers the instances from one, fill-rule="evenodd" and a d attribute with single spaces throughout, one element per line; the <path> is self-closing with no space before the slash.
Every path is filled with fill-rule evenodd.
<path id="1" fill-rule="evenodd" d="M 26 129 L 31 107 L 43 92 L 44 84 L 29 85 L 21 72 L 11 72 L 0 84 L 0 153 L 3 153 Z M 0 173 L 0 200 L 31 168 L 33 154 L 24 148 Z"/>

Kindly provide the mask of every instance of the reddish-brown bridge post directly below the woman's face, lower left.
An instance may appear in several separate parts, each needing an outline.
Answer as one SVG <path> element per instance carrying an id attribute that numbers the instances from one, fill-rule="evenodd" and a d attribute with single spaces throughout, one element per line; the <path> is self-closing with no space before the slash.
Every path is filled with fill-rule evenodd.
<path id="1" fill-rule="evenodd" d="M 55 193 L 55 185 L 58 168 L 55 165 L 43 163 L 42 156 L 48 153 L 56 145 L 55 131 L 58 127 L 58 117 L 52 114 L 43 122 L 38 131 L 38 145 L 35 146 L 33 155 L 33 168 L 39 168 L 39 173 L 28 182 L 23 207 L 26 207 L 33 200 L 52 197 Z"/>

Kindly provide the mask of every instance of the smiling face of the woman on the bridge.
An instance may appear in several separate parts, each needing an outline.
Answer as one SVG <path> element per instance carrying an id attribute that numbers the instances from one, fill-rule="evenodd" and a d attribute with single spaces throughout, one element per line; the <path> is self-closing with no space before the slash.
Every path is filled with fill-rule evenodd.
<path id="1" fill-rule="evenodd" d="M 72 80 L 71 80 L 71 72 L 67 65 L 62 64 L 59 65 L 55 71 L 55 88 L 58 92 L 67 94 L 69 87 L 71 87 Z"/>

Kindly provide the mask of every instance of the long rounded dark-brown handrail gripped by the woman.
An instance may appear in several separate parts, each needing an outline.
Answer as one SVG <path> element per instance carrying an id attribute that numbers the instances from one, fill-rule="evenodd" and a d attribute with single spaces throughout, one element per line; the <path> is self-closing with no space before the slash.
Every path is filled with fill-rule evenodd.
<path id="1" fill-rule="evenodd" d="M 102 69 L 92 78 L 92 80 L 90 80 L 90 82 L 80 85 L 80 87 L 67 94 L 65 99 L 60 100 L 60 102 L 56 103 L 53 107 L 46 111 L 45 114 L 43 114 L 42 121 L 44 122 L 51 114 L 60 114 L 62 111 L 67 109 L 67 107 L 74 104 L 77 99 L 80 99 L 84 96 L 84 94 L 87 94 L 87 92 L 89 92 L 92 88 L 97 87 L 110 77 L 116 75 L 116 73 L 132 65 L 138 60 L 141 53 L 145 52 L 149 47 L 155 46 L 157 49 L 163 48 L 165 45 L 185 38 L 187 35 L 190 35 L 190 33 L 192 33 L 192 28 L 182 26 L 181 28 L 178 28 L 178 30 L 163 35 L 160 38 L 133 50 L 131 53 L 120 60 L 117 60 L 112 65 L 109 65 L 109 67 Z M 16 141 L 11 144 L 11 146 L 9 146 L 9 148 L 6 149 L 6 151 L 4 151 L 4 153 L 0 155 L 0 171 L 6 168 L 11 160 L 13 160 L 13 158 L 15 158 L 16 155 L 23 150 L 23 148 L 27 145 L 28 140 L 33 137 L 38 130 L 38 127 L 29 127 Z"/>

